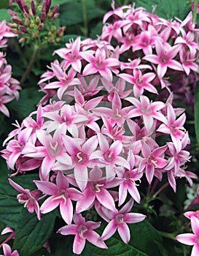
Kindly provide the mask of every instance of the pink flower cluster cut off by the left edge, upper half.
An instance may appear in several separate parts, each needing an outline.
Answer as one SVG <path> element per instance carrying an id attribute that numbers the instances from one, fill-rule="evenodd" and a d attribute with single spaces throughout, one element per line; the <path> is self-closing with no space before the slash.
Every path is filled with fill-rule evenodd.
<path id="1" fill-rule="evenodd" d="M 0 23 L 0 48 L 7 45 L 7 37 L 15 37 L 5 20 Z M 12 67 L 7 64 L 5 54 L 0 51 L 0 111 L 4 115 L 9 116 L 9 110 L 5 106 L 6 103 L 11 102 L 12 99 L 19 98 L 20 86 L 19 81 L 12 78 Z"/>

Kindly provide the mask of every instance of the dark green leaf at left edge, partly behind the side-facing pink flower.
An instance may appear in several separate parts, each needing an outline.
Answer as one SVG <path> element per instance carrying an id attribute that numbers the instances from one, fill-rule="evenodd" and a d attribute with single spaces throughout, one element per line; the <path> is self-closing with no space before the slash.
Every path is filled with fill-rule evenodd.
<path id="1" fill-rule="evenodd" d="M 26 175 L 13 177 L 12 180 L 17 184 L 20 184 L 23 188 L 34 189 L 35 184 L 32 182 L 38 176 Z M 10 186 L 7 176 L 1 177 L 0 180 L 0 221 L 5 225 L 16 228 L 17 221 L 20 217 L 23 206 L 18 203 L 17 192 L 12 186 Z M 27 211 L 27 209 L 26 209 Z"/>

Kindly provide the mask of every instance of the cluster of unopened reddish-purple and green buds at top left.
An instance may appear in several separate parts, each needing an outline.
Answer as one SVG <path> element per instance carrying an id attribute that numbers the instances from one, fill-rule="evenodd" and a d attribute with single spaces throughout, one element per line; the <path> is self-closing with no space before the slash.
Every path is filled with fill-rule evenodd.
<path id="1" fill-rule="evenodd" d="M 19 36 L 19 42 L 29 43 L 31 40 L 36 42 L 60 42 L 65 26 L 60 27 L 58 20 L 58 5 L 51 8 L 51 0 L 31 0 L 30 6 L 24 0 L 15 0 L 11 4 L 12 23 L 8 23 L 13 33 Z M 52 10 L 51 10 L 52 9 Z"/>

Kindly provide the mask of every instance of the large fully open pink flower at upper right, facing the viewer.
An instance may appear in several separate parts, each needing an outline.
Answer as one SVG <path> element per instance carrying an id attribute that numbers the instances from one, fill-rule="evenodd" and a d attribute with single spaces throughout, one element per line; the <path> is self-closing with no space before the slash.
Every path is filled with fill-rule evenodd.
<path id="1" fill-rule="evenodd" d="M 165 75 L 168 67 L 174 70 L 182 71 L 182 65 L 173 60 L 173 58 L 179 53 L 181 45 L 168 45 L 168 43 L 161 43 L 160 41 L 155 42 L 155 50 L 157 55 L 149 54 L 144 56 L 144 60 L 150 61 L 154 64 L 157 64 L 157 75 L 161 79 Z"/>

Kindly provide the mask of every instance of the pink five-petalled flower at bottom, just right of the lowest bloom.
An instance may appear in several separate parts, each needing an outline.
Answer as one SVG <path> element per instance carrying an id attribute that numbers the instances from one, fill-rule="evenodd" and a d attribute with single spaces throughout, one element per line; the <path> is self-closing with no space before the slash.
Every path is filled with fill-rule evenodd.
<path id="1" fill-rule="evenodd" d="M 104 208 L 104 215 L 111 219 L 109 224 L 104 229 L 104 232 L 101 235 L 102 240 L 106 240 L 114 235 L 115 231 L 117 230 L 122 241 L 125 244 L 128 244 L 130 241 L 130 230 L 128 228 L 127 223 L 136 223 L 141 222 L 146 218 L 144 214 L 137 214 L 137 213 L 128 213 L 133 206 L 133 199 L 129 200 L 128 203 L 125 204 L 121 208 L 120 211 L 114 212 Z"/>

